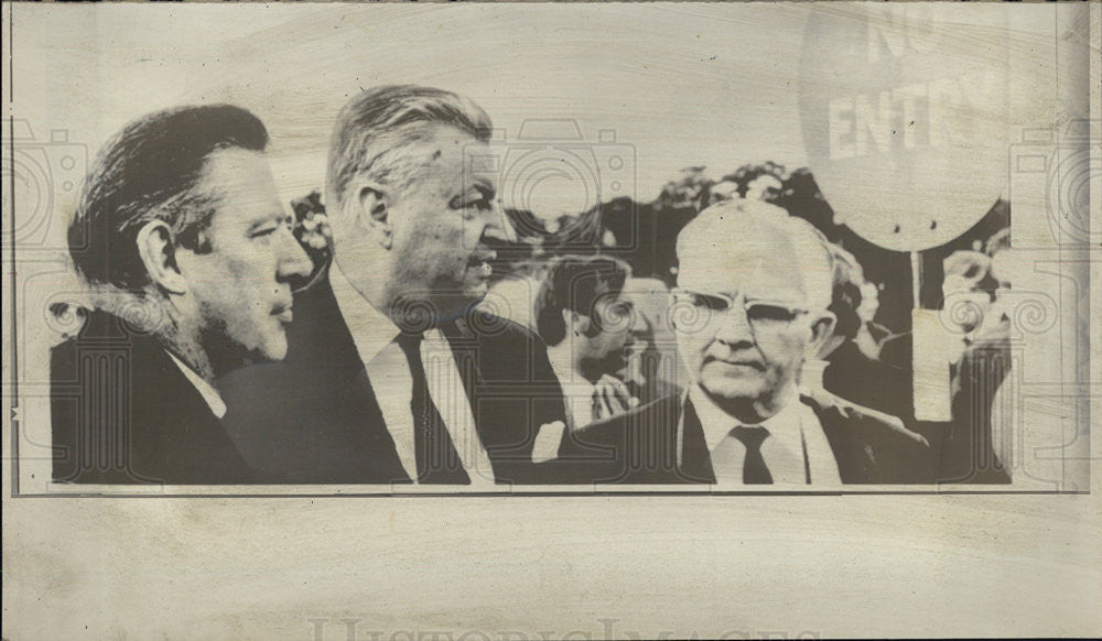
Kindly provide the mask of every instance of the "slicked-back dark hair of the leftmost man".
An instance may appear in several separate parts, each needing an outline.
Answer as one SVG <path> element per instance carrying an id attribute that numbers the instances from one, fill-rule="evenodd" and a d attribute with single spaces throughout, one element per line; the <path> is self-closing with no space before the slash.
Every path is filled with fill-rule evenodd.
<path id="1" fill-rule="evenodd" d="M 143 116 L 115 135 L 96 157 L 68 229 L 69 253 L 90 283 L 137 290 L 149 283 L 138 231 L 163 220 L 183 247 L 205 249 L 214 208 L 197 194 L 207 156 L 240 148 L 263 151 L 268 131 L 239 107 L 177 107 Z M 85 230 L 88 232 L 85 241 Z"/>

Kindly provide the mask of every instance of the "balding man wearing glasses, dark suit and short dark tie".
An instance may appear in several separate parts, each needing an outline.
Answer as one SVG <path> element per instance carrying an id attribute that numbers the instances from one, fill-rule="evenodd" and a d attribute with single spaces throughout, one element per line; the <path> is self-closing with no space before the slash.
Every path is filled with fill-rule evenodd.
<path id="1" fill-rule="evenodd" d="M 830 335 L 832 259 L 803 220 L 752 200 L 714 205 L 678 236 L 670 319 L 690 377 L 679 396 L 598 423 L 560 460 L 595 482 L 904 482 L 928 448 L 901 422 L 801 389 Z M 588 468 L 586 468 L 588 465 Z"/>

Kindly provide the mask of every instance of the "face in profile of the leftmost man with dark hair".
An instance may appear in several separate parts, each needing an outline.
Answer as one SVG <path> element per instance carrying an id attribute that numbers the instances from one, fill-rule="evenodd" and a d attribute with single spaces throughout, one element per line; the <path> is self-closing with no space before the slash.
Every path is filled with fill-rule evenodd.
<path id="1" fill-rule="evenodd" d="M 199 344 L 227 360 L 282 359 L 291 280 L 309 276 L 312 263 L 291 233 L 268 161 L 253 151 L 215 151 L 197 189 L 215 209 L 203 231 L 206 248 L 179 248 L 175 259 L 195 303 Z"/>

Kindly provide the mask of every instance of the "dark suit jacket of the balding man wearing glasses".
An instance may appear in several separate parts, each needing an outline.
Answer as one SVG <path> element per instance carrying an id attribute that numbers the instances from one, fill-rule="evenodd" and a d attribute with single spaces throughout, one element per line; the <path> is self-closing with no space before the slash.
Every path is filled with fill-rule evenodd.
<path id="1" fill-rule="evenodd" d="M 898 421 L 830 395 L 801 395 L 822 424 L 844 484 L 927 482 L 926 441 Z M 678 430 L 683 422 L 682 463 Z M 667 396 L 563 439 L 560 482 L 713 484 L 715 474 L 691 401 Z"/>

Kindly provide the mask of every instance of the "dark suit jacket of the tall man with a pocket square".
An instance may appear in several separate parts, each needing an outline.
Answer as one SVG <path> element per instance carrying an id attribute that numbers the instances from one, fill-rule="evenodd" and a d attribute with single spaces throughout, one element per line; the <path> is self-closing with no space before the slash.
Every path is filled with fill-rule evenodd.
<path id="1" fill-rule="evenodd" d="M 486 314 L 441 330 L 498 482 L 538 482 L 537 432 L 565 421 L 547 348 L 519 325 Z M 249 463 L 267 482 L 410 482 L 327 279 L 296 294 L 288 340 L 284 362 L 219 382 L 231 434 Z"/>

